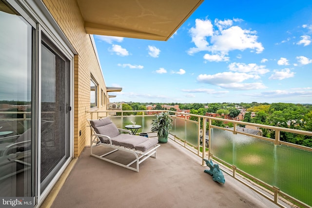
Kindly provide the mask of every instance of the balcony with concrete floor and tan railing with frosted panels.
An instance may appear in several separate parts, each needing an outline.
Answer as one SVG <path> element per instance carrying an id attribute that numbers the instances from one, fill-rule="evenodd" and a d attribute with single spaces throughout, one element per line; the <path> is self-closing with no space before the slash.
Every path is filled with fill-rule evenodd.
<path id="1" fill-rule="evenodd" d="M 129 112 L 138 111 L 122 111 L 121 116 L 112 116 L 111 120 L 117 127 L 135 121 L 142 126 L 141 132 L 149 132 L 154 116 L 147 111 L 140 111 L 140 116 L 126 115 Z M 288 144 L 279 137 L 281 132 L 308 136 L 312 136 L 312 132 L 248 123 L 272 129 L 274 140 L 238 132 L 236 125 L 246 125 L 244 122 L 191 115 L 198 117 L 199 122 L 195 122 L 170 112 L 174 119 L 170 140 L 158 148 L 156 159 L 149 158 L 140 165 L 140 171 L 135 172 L 90 157 L 90 147 L 86 147 L 74 160 L 76 165 L 52 207 L 92 204 L 93 207 L 272 208 L 292 207 L 293 203 L 311 207 L 312 148 Z M 98 115 L 108 115 L 109 111 L 90 113 L 91 118 L 96 119 L 101 117 Z M 202 148 L 205 140 L 200 144 L 199 118 L 203 120 L 203 129 L 209 125 L 209 151 Z M 234 128 L 212 125 L 212 120 L 231 122 Z M 149 132 L 149 137 L 153 136 L 156 133 Z M 127 160 L 127 157 L 123 155 L 119 159 Z M 220 165 L 226 180 L 224 185 L 204 173 L 208 167 L 204 166 L 203 158 L 213 159 Z"/>

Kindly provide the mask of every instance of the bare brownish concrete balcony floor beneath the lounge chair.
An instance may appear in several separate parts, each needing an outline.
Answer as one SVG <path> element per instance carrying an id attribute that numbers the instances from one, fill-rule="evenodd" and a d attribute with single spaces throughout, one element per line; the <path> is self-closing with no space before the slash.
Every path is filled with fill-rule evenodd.
<path id="1" fill-rule="evenodd" d="M 86 147 L 52 208 L 278 207 L 226 173 L 224 185 L 214 182 L 201 159 L 172 140 L 157 149 L 156 158 L 142 162 L 139 172 L 89 153 Z"/>

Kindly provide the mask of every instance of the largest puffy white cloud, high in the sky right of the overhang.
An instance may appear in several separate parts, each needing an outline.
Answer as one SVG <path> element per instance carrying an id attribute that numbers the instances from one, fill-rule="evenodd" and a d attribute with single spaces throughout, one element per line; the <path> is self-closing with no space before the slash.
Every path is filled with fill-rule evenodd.
<path id="1" fill-rule="evenodd" d="M 221 57 L 225 57 L 232 50 L 243 51 L 249 48 L 255 50 L 256 53 L 261 53 L 264 47 L 262 43 L 257 42 L 256 32 L 233 26 L 233 22 L 236 21 L 242 20 L 220 21 L 215 19 L 217 30 L 214 30 L 210 20 L 196 19 L 195 27 L 190 29 L 192 42 L 194 42 L 195 47 L 190 48 L 188 54 L 193 55 L 199 51 L 210 51 L 213 55 L 207 55 L 206 60 L 220 61 L 222 60 L 220 59 Z"/>

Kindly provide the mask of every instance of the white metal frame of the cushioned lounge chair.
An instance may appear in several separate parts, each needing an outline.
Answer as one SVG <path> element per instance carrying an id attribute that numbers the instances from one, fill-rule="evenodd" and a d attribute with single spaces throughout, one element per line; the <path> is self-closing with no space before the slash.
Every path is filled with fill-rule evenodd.
<path id="1" fill-rule="evenodd" d="M 91 131 L 93 133 L 92 136 L 91 136 L 91 145 L 90 145 L 91 146 L 90 147 L 91 148 L 91 153 L 90 153 L 91 156 L 94 156 L 94 157 L 99 158 L 101 160 L 113 163 L 113 164 L 115 164 L 117 166 L 122 166 L 122 167 L 128 168 L 130 170 L 134 170 L 134 171 L 137 171 L 137 172 L 139 171 L 139 164 L 140 163 L 142 163 L 143 161 L 145 161 L 149 157 L 156 158 L 156 149 L 160 146 L 159 144 L 156 144 L 154 147 L 148 149 L 145 152 L 139 151 L 139 150 L 136 150 L 136 149 L 131 149 L 131 148 L 128 148 L 128 147 L 125 147 L 125 146 L 113 145 L 111 137 L 109 137 L 107 135 L 97 134 L 95 132 L 94 128 L 92 127 L 92 125 L 90 124 L 90 121 L 92 121 L 92 120 L 88 119 Z M 118 128 L 118 130 L 119 130 L 119 132 L 127 132 L 129 134 L 132 134 L 131 131 L 127 130 L 127 129 Z M 108 139 L 109 143 L 102 143 L 101 140 L 99 139 L 99 137 Z M 113 148 L 113 150 L 110 151 L 110 152 L 107 152 L 107 153 L 105 153 L 103 155 L 98 156 L 98 155 L 96 155 L 96 154 L 94 154 L 92 152 L 92 148 L 94 146 L 97 146 L 97 145 L 111 147 L 111 148 Z M 116 161 L 113 161 L 113 160 L 110 160 L 108 158 L 105 158 L 105 156 L 107 156 L 109 154 L 112 154 L 113 152 L 116 152 L 117 150 L 131 153 L 131 154 L 133 154 L 136 157 L 136 159 L 131 161 L 129 164 L 124 165 L 122 163 L 118 163 Z M 136 167 L 131 167 L 131 165 L 134 164 L 134 163 L 136 163 Z"/>

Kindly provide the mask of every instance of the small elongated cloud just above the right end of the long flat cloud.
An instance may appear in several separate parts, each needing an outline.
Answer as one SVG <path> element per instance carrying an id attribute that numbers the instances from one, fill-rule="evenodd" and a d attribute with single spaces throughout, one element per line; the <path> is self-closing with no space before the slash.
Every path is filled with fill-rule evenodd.
<path id="1" fill-rule="evenodd" d="M 243 73 L 250 73 L 250 74 L 266 74 L 270 70 L 266 69 L 265 65 L 257 65 L 255 63 L 231 63 L 229 65 L 230 71 L 236 71 L 236 72 L 243 72 Z"/>

